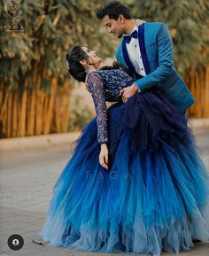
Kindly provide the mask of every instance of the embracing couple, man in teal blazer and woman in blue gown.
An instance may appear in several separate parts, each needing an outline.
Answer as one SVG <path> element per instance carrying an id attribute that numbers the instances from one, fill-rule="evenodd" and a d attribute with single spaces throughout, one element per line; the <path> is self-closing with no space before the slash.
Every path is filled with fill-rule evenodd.
<path id="1" fill-rule="evenodd" d="M 133 19 L 118 1 L 97 11 L 121 42 L 99 68 L 95 50 L 74 46 L 67 68 L 92 95 L 97 117 L 82 129 L 53 187 L 40 235 L 88 252 L 180 252 L 208 241 L 209 175 L 187 126 L 195 100 L 174 67 L 162 22 Z M 106 108 L 105 102 L 116 102 Z"/>

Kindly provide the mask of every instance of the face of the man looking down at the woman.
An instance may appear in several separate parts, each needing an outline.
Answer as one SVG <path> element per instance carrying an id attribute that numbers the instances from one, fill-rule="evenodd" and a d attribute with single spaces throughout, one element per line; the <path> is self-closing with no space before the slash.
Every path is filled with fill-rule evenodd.
<path id="1" fill-rule="evenodd" d="M 118 38 L 120 38 L 125 32 L 123 17 L 119 17 L 119 19 L 115 20 L 110 19 L 109 15 L 105 15 L 103 18 L 103 24 L 108 33 L 111 33 Z"/>

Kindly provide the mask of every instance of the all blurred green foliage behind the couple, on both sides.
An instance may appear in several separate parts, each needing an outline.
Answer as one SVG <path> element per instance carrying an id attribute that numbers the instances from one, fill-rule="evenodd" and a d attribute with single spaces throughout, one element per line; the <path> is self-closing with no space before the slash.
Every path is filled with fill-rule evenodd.
<path id="1" fill-rule="evenodd" d="M 0 25 L 11 24 L 0 4 Z M 0 31 L 0 81 L 12 88 L 24 87 L 27 77 L 41 76 L 49 88 L 51 77 L 61 85 L 69 78 L 66 51 L 75 44 L 89 45 L 104 57 L 113 56 L 115 41 L 96 18 L 96 10 L 106 1 L 97 0 L 23 0 L 19 24 L 24 32 Z M 209 1 L 124 0 L 135 18 L 164 21 L 174 40 L 174 58 L 183 74 L 197 66 L 208 65 Z M 38 72 L 35 74 L 35 66 Z M 46 73 L 44 75 L 44 73 Z M 30 82 L 35 86 L 35 81 Z"/>

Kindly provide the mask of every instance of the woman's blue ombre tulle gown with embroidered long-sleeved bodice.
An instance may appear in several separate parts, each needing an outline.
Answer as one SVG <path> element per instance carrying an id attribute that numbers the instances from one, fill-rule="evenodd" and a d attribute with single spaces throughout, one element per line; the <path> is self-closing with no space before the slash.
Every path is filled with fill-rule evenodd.
<path id="1" fill-rule="evenodd" d="M 209 239 L 209 176 L 187 119 L 159 90 L 136 93 L 120 70 L 89 74 L 97 118 L 82 129 L 54 185 L 42 232 L 53 246 L 160 255 Z M 118 101 L 106 109 L 105 101 Z M 109 170 L 99 165 L 100 144 Z"/>

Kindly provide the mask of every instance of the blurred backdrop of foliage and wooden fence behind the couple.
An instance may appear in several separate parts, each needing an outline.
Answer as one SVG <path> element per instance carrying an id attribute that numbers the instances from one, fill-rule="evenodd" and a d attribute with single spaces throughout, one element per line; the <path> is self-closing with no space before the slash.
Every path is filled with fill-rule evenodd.
<path id="1" fill-rule="evenodd" d="M 0 1 L 0 138 L 79 131 L 95 115 L 70 79 L 66 52 L 81 44 L 112 63 L 119 43 L 96 19 L 107 1 Z M 164 21 L 174 62 L 197 100 L 188 114 L 209 118 L 209 1 L 123 0 L 136 19 Z"/>

